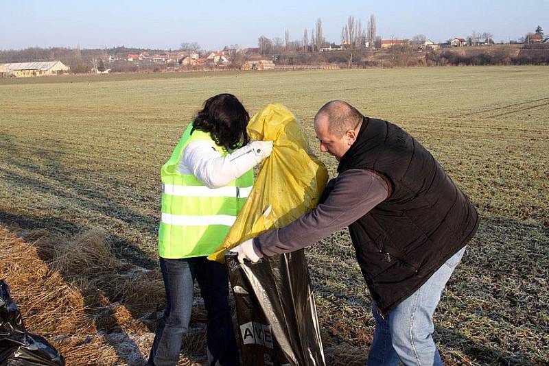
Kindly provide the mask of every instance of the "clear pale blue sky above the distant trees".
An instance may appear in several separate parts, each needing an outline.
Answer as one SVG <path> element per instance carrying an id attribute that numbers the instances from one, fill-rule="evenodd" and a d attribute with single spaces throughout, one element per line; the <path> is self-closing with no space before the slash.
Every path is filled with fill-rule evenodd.
<path id="1" fill-rule="evenodd" d="M 198 42 L 203 49 L 238 44 L 257 47 L 269 38 L 309 36 L 317 18 L 329 41 L 340 42 L 349 15 L 366 22 L 374 14 L 382 38 L 425 34 L 435 42 L 473 31 L 496 42 L 533 32 L 549 34 L 548 0 L 489 1 L 0 1 L 0 49 L 26 47 L 100 48 L 126 45 L 177 49 Z"/>

